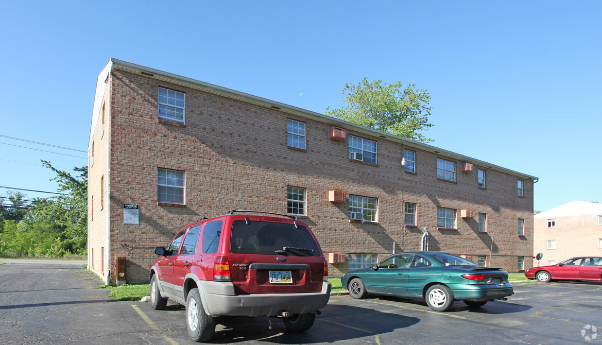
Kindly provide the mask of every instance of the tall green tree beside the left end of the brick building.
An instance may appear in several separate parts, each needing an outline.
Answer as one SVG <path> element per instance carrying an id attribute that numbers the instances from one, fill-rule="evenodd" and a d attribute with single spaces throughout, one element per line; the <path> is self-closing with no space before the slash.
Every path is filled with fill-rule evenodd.
<path id="1" fill-rule="evenodd" d="M 42 160 L 57 176 L 51 181 L 58 181 L 58 196 L 39 201 L 33 209 L 37 221 L 60 226 L 69 241 L 69 250 L 73 253 L 85 253 L 88 233 L 88 168 L 74 167 L 79 175 L 55 169 L 49 161 Z"/>

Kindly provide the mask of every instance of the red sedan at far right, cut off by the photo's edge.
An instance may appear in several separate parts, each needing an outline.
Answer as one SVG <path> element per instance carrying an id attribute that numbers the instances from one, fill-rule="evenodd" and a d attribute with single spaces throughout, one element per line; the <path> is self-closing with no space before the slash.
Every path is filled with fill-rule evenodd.
<path id="1" fill-rule="evenodd" d="M 602 281 L 602 258 L 579 256 L 551 266 L 533 267 L 525 271 L 529 279 L 547 283 L 553 279 L 576 281 Z"/>

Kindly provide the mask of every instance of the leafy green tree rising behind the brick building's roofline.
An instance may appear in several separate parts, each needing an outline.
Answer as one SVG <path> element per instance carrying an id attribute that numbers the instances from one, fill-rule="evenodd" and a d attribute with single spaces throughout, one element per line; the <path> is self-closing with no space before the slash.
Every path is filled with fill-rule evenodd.
<path id="1" fill-rule="evenodd" d="M 358 85 L 345 84 L 343 95 L 346 105 L 328 107 L 326 114 L 422 143 L 435 141 L 418 132 L 433 126 L 428 120 L 433 108 L 429 107 L 429 93 L 416 89 L 415 84 L 403 89 L 401 81 L 387 85 L 364 77 Z"/>

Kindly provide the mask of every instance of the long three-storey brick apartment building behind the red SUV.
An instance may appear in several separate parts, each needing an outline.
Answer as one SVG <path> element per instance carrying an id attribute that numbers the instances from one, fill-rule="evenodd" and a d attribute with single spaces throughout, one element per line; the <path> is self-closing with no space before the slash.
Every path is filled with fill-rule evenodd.
<path id="1" fill-rule="evenodd" d="M 231 208 L 298 214 L 334 277 L 420 249 L 425 228 L 430 250 L 532 264 L 534 176 L 125 61 L 98 77 L 88 164 L 105 281 L 147 282 L 154 247 Z"/>

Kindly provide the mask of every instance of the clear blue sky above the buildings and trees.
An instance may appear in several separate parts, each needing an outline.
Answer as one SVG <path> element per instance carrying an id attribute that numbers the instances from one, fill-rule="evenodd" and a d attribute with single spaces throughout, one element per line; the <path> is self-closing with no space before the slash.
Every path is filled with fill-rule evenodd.
<path id="1" fill-rule="evenodd" d="M 414 83 L 432 98 L 433 145 L 538 176 L 535 210 L 602 202 L 592 180 L 602 171 L 600 1 L 7 1 L 2 10 L 1 186 L 56 191 L 40 159 L 87 164 L 10 145 L 85 153 L 6 137 L 86 151 L 96 76 L 114 57 L 318 113 L 341 107 L 345 83 L 364 76 Z"/>

